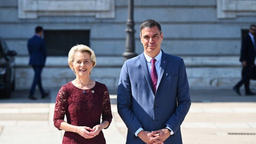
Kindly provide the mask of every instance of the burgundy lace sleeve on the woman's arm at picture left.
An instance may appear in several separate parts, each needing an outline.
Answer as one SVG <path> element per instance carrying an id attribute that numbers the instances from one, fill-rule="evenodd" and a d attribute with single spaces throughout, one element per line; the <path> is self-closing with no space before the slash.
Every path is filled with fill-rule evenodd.
<path id="1" fill-rule="evenodd" d="M 60 129 L 60 124 L 64 121 L 65 114 L 67 110 L 67 91 L 64 86 L 62 86 L 58 92 L 55 108 L 54 108 L 54 115 L 53 115 L 53 123 L 57 129 Z"/>

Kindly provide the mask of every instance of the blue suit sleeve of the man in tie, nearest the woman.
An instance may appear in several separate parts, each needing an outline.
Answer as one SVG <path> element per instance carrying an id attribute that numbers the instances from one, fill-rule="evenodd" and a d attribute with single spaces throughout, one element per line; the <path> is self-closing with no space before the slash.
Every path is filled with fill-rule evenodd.
<path id="1" fill-rule="evenodd" d="M 117 110 L 130 132 L 135 133 L 140 127 L 143 127 L 132 111 L 131 82 L 126 62 L 122 67 L 118 83 Z"/>

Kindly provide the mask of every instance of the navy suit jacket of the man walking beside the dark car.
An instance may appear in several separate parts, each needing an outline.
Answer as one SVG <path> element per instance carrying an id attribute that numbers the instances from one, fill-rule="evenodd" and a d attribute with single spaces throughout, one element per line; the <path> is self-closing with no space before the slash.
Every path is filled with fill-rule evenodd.
<path id="1" fill-rule="evenodd" d="M 44 66 L 46 60 L 46 47 L 44 39 L 34 35 L 28 40 L 29 65 Z"/>

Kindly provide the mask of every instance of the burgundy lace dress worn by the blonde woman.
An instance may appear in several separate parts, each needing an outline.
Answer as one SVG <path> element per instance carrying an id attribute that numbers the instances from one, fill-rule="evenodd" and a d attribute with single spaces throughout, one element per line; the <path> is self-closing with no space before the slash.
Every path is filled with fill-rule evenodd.
<path id="1" fill-rule="evenodd" d="M 105 84 L 95 82 L 92 89 L 79 89 L 71 82 L 63 85 L 57 95 L 53 122 L 60 130 L 60 124 L 67 117 L 67 123 L 77 126 L 93 127 L 102 121 L 112 120 L 108 89 Z M 103 132 L 92 139 L 85 139 L 78 133 L 65 132 L 62 143 L 106 143 Z"/>

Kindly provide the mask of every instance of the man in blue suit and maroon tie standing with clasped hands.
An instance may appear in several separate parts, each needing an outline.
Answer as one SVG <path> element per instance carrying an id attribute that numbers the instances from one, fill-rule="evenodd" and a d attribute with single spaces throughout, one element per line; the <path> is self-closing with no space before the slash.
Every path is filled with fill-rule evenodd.
<path id="1" fill-rule="evenodd" d="M 126 143 L 182 143 L 180 125 L 191 105 L 185 64 L 161 50 L 157 21 L 141 23 L 140 40 L 144 52 L 125 61 L 117 90 Z"/>

